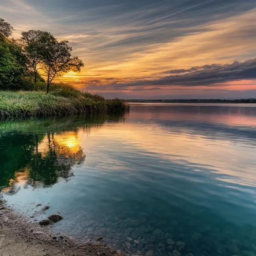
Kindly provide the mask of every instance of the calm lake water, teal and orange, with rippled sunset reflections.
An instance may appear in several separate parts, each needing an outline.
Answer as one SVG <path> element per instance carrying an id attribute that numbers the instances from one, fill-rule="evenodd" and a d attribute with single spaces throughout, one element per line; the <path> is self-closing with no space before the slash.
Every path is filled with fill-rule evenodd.
<path id="1" fill-rule="evenodd" d="M 0 124 L 0 159 L 7 202 L 31 221 L 61 213 L 62 233 L 147 256 L 256 255 L 254 105 Z"/>

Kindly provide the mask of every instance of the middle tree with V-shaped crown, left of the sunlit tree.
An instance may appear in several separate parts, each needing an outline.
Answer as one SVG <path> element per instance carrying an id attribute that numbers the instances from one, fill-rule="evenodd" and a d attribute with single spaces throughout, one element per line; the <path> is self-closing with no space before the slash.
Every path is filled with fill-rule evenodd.
<path id="1" fill-rule="evenodd" d="M 55 41 L 52 34 L 47 31 L 29 30 L 21 32 L 21 45 L 28 60 L 28 68 L 32 71 L 34 76 L 34 83 L 38 78 L 38 70 L 47 55 L 49 45 Z"/>

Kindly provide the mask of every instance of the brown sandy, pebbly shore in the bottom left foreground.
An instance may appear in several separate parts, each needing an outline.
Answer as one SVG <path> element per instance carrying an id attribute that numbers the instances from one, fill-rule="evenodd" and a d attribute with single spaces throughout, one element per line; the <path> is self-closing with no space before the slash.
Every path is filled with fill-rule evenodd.
<path id="1" fill-rule="evenodd" d="M 54 233 L 49 227 L 29 223 L 0 200 L 0 256 L 124 256 L 108 248 L 104 239 L 78 243 Z"/>

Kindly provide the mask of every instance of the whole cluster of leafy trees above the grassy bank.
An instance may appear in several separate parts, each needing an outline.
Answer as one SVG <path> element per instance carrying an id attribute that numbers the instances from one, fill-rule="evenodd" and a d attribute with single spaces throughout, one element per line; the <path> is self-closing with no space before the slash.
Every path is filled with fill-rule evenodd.
<path id="1" fill-rule="evenodd" d="M 47 31 L 21 32 L 10 38 L 13 27 L 0 18 L 0 90 L 46 90 L 55 77 L 84 66 L 72 57 L 68 41 L 58 42 Z M 40 71 L 40 72 L 39 72 Z M 43 77 L 45 79 L 43 79 Z"/>

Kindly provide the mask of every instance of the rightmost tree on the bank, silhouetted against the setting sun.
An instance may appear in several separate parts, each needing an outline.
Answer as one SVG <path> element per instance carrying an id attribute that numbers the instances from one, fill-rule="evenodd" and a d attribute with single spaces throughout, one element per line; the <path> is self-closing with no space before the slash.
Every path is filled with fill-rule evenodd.
<path id="1" fill-rule="evenodd" d="M 72 57 L 72 47 L 67 45 L 68 41 L 51 41 L 47 51 L 44 53 L 42 69 L 47 76 L 47 94 L 49 86 L 55 77 L 59 77 L 68 71 L 80 72 L 83 62 L 78 57 Z"/>

